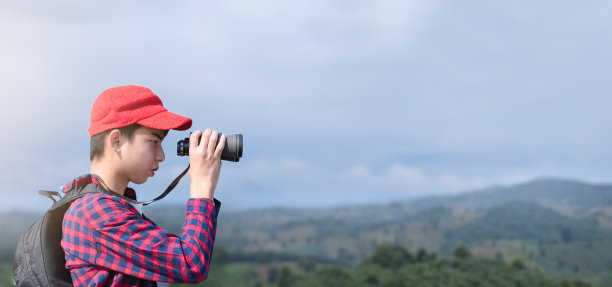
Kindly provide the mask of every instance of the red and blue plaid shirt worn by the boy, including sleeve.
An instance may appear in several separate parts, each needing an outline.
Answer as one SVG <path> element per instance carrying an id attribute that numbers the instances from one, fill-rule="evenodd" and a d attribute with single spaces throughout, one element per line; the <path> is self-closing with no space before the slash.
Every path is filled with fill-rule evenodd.
<path id="1" fill-rule="evenodd" d="M 72 184 L 64 186 L 68 192 Z M 92 175 L 76 184 L 100 182 Z M 130 196 L 133 190 L 126 190 Z M 132 196 L 135 196 L 133 193 Z M 208 276 L 220 202 L 187 202 L 183 234 L 158 227 L 125 199 L 87 194 L 73 202 L 62 224 L 66 268 L 74 286 L 156 286 L 195 283 Z"/>

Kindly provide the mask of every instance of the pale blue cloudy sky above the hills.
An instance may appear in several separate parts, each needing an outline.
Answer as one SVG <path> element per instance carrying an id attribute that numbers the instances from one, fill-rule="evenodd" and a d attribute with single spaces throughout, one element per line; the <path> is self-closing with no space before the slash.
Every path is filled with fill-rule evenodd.
<path id="1" fill-rule="evenodd" d="M 89 171 L 95 98 L 151 88 L 244 135 L 229 210 L 378 204 L 555 177 L 610 183 L 609 1 L 0 0 L 0 210 Z M 176 142 L 134 186 L 188 164 Z M 160 203 L 183 203 L 185 178 Z"/>

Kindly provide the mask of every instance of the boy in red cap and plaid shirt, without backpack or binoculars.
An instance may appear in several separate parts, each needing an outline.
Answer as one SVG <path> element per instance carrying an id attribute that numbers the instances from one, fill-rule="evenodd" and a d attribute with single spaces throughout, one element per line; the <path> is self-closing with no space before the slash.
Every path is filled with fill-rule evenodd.
<path id="1" fill-rule="evenodd" d="M 190 198 L 182 235 L 156 226 L 130 203 L 154 176 L 165 155 L 168 130 L 186 130 L 191 119 L 168 112 L 148 88 L 121 86 L 93 104 L 90 173 L 64 186 L 96 184 L 109 193 L 73 202 L 62 224 L 62 248 L 74 286 L 156 286 L 195 283 L 208 275 L 220 202 L 214 199 L 225 136 L 195 131 L 189 139 Z"/>

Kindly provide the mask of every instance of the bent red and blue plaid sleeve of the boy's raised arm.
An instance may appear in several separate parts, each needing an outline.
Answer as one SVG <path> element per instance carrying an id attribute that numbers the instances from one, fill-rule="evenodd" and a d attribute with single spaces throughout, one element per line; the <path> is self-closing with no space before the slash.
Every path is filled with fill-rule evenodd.
<path id="1" fill-rule="evenodd" d="M 220 202 L 189 199 L 180 237 L 114 196 L 100 196 L 86 208 L 96 265 L 150 281 L 195 283 L 207 278 Z"/>

